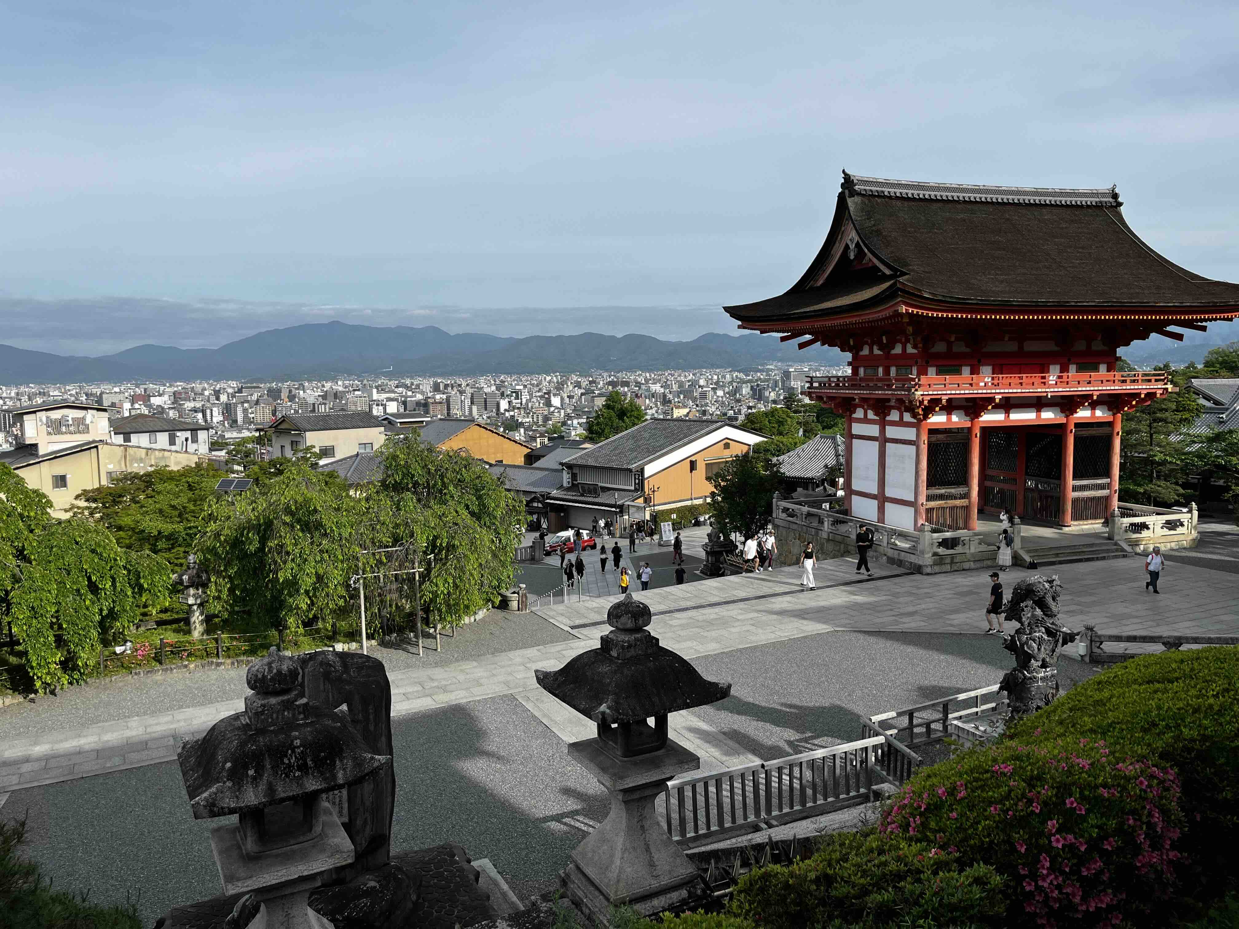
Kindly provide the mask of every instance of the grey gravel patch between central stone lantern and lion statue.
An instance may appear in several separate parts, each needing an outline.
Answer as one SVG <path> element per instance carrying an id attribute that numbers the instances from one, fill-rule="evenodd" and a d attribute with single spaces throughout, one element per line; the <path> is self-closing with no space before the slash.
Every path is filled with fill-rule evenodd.
<path id="1" fill-rule="evenodd" d="M 862 720 L 997 684 L 996 635 L 828 632 L 694 659 L 731 696 L 691 712 L 763 761 L 860 738 Z M 1095 673 L 1059 661 L 1063 686 Z"/>

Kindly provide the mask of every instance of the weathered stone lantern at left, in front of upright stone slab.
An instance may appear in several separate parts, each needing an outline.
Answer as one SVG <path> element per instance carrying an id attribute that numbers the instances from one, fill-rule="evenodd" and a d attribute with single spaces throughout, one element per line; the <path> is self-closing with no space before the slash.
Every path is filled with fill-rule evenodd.
<path id="1" fill-rule="evenodd" d="M 224 892 L 253 893 L 254 929 L 323 929 L 310 891 L 352 863 L 353 842 L 323 794 L 392 763 L 373 754 L 347 717 L 302 694 L 301 664 L 271 649 L 245 674 L 252 692 L 177 756 L 195 819 L 235 814 L 211 830 Z"/>

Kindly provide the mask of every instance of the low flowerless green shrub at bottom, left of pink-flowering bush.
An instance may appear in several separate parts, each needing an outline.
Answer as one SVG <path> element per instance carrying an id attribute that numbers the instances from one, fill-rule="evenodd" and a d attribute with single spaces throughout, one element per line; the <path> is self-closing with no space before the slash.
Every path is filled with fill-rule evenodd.
<path id="1" fill-rule="evenodd" d="M 810 858 L 745 874 L 729 905 L 729 915 L 769 929 L 830 920 L 865 929 L 903 920 L 996 927 L 1005 912 L 1002 878 L 989 865 L 873 832 L 843 832 Z"/>

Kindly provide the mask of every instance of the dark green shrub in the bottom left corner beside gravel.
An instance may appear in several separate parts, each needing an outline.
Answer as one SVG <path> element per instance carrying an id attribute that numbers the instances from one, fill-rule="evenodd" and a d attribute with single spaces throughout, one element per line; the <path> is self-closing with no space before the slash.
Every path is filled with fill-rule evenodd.
<path id="1" fill-rule="evenodd" d="M 133 904 L 104 907 L 52 891 L 38 865 L 17 856 L 26 824 L 0 821 L 0 925 L 11 929 L 141 929 Z"/>

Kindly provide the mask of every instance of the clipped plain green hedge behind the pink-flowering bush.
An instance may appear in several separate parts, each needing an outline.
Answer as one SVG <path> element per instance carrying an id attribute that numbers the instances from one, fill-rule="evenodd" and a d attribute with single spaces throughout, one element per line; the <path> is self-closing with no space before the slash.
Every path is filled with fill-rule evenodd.
<path id="1" fill-rule="evenodd" d="M 1010 736 L 1044 744 L 1104 739 L 1115 754 L 1173 768 L 1182 783 L 1184 847 L 1202 878 L 1239 868 L 1239 648 L 1162 652 L 1124 661 L 1072 687 Z"/>

